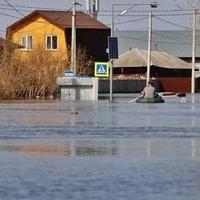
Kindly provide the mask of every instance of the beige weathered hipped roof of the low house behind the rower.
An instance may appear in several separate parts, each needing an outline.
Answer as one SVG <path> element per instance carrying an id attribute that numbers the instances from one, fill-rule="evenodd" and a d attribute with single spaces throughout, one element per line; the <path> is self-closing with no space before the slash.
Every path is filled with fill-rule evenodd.
<path id="1" fill-rule="evenodd" d="M 148 51 L 132 49 L 122 54 L 114 61 L 114 67 L 144 67 L 147 66 Z M 168 69 L 191 69 L 191 64 L 165 51 L 151 51 L 151 66 Z"/>

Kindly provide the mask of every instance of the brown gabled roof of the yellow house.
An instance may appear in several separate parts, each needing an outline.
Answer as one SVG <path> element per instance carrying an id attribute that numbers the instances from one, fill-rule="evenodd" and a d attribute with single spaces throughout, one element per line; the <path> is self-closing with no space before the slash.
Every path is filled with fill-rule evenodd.
<path id="1" fill-rule="evenodd" d="M 8 29 L 12 29 L 26 20 L 39 15 L 47 21 L 54 23 L 62 29 L 71 28 L 72 26 L 72 12 L 71 11 L 51 11 L 51 10 L 35 10 L 29 15 L 25 16 L 16 23 L 10 25 Z M 90 15 L 76 11 L 76 28 L 77 29 L 110 29 L 105 24 L 92 18 Z"/>

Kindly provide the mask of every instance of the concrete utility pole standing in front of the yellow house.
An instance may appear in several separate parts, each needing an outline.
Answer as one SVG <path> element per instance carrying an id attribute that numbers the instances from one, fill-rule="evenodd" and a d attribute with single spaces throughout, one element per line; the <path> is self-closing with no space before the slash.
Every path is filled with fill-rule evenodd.
<path id="1" fill-rule="evenodd" d="M 72 30 L 71 30 L 71 67 L 76 76 L 76 0 L 73 0 Z"/>

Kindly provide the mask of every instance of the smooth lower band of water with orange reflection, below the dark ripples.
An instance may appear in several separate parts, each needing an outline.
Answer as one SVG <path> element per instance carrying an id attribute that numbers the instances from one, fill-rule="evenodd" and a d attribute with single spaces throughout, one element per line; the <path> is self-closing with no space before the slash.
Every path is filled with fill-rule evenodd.
<path id="1" fill-rule="evenodd" d="M 33 139 L 0 142 L 0 152 L 52 156 L 200 159 L 200 139 Z"/>

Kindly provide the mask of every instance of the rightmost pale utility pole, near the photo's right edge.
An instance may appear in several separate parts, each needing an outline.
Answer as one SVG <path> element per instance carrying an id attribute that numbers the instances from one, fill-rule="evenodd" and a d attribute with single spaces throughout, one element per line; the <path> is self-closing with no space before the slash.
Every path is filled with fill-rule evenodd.
<path id="1" fill-rule="evenodd" d="M 196 10 L 193 10 L 192 17 L 192 77 L 191 93 L 195 93 L 195 56 L 196 56 Z"/>

